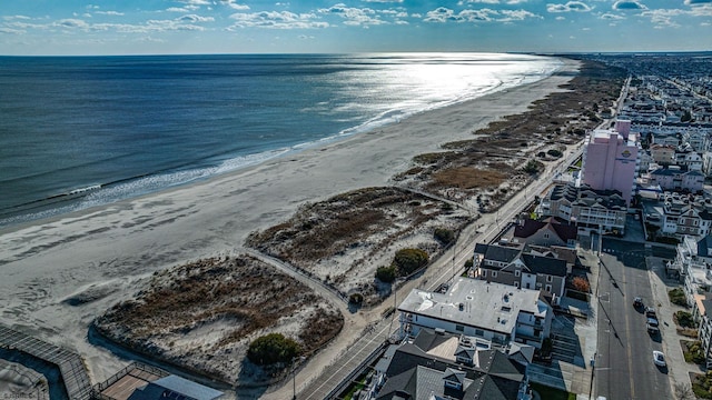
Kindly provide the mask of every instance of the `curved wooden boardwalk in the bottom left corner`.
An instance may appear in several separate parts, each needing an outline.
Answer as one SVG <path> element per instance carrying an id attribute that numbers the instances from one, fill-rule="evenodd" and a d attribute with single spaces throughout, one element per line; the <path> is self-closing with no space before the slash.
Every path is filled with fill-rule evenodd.
<path id="1" fill-rule="evenodd" d="M 91 382 L 79 354 L 0 324 L 0 347 L 16 350 L 59 368 L 72 400 L 91 398 Z"/>

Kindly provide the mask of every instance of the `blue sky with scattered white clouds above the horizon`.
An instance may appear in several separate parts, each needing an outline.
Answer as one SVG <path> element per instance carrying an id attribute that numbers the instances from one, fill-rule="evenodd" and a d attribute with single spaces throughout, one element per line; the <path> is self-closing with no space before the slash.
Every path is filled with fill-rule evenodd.
<path id="1" fill-rule="evenodd" d="M 712 0 L 4 0 L 0 54 L 712 50 Z"/>

